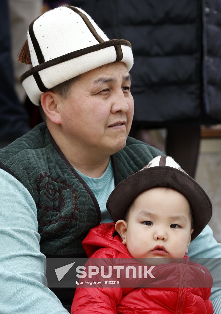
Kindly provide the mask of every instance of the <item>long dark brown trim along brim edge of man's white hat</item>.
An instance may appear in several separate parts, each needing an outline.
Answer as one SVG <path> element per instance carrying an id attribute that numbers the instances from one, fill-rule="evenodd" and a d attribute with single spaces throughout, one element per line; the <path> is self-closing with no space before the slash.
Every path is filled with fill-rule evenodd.
<path id="1" fill-rule="evenodd" d="M 20 81 L 20 83 L 22 83 L 25 80 L 25 78 L 29 77 L 30 75 L 34 75 L 34 73 L 37 73 L 41 70 L 50 68 L 53 65 L 74 59 L 76 57 L 83 56 L 83 55 L 90 53 L 90 52 L 98 51 L 98 50 L 101 50 L 101 49 L 104 49 L 107 47 L 117 46 L 117 45 L 123 45 L 123 46 L 131 47 L 130 42 L 127 40 L 124 40 L 124 39 L 112 39 L 109 41 L 104 41 L 100 44 L 86 47 L 86 48 L 83 48 L 83 49 L 80 49 L 77 51 L 72 51 L 72 52 L 69 52 L 63 56 L 60 56 L 60 57 L 54 58 L 52 60 L 46 61 L 44 63 L 38 64 L 35 67 L 31 68 L 30 70 L 26 71 L 24 74 L 22 74 L 19 78 L 19 81 Z"/>

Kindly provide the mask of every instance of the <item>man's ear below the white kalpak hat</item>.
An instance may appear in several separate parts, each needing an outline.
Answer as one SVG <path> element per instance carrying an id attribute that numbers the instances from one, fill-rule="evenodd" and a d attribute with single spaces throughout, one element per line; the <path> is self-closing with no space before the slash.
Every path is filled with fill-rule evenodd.
<path id="1" fill-rule="evenodd" d="M 61 115 L 58 105 L 60 102 L 61 97 L 50 90 L 47 90 L 41 95 L 42 109 L 47 118 L 55 124 L 61 124 Z"/>

